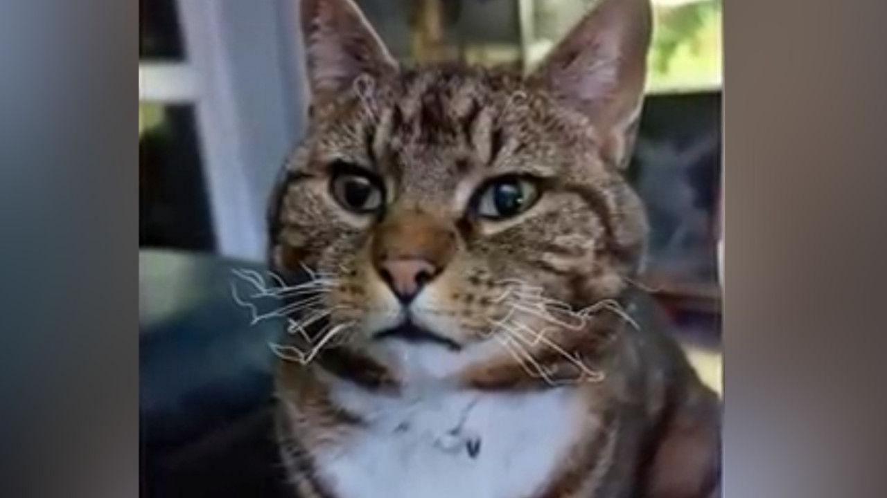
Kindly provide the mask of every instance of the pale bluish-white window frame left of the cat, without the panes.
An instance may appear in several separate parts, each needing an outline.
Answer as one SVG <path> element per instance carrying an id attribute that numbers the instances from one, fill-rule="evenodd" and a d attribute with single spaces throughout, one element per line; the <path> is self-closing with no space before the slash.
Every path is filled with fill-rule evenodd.
<path id="1" fill-rule="evenodd" d="M 298 0 L 176 0 L 184 59 L 140 59 L 139 103 L 192 105 L 216 253 L 265 258 L 265 205 L 302 136 Z"/>

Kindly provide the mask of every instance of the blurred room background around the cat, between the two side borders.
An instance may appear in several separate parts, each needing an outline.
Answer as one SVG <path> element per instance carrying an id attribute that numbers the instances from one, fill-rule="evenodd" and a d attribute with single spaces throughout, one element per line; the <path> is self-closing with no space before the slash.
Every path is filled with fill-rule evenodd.
<path id="1" fill-rule="evenodd" d="M 595 1 L 357 4 L 404 64 L 459 60 L 526 71 Z M 648 98 L 629 170 L 653 228 L 639 286 L 720 392 L 722 4 L 652 3 Z M 298 4 L 139 1 L 145 495 L 212 488 L 242 496 L 262 486 L 273 495 L 279 480 L 263 474 L 275 457 L 267 413 L 255 407 L 270 393 L 266 342 L 280 327 L 251 324 L 233 307 L 229 284 L 231 268 L 261 268 L 271 185 L 305 129 Z M 247 436 L 255 433 L 259 442 Z M 243 455 L 255 455 L 253 471 Z M 237 471 L 219 479 L 226 465 Z"/>

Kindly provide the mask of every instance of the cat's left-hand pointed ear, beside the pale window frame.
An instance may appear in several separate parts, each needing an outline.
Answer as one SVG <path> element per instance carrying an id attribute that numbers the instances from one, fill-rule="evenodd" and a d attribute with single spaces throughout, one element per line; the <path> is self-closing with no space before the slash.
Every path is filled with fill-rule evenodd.
<path id="1" fill-rule="evenodd" d="M 348 89 L 360 74 L 378 77 L 397 70 L 352 0 L 302 0 L 301 16 L 314 98 Z"/>

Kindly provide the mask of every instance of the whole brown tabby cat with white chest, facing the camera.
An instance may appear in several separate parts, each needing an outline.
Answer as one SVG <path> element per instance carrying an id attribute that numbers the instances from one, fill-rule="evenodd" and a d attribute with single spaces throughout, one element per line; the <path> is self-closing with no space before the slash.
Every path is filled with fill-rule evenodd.
<path id="1" fill-rule="evenodd" d="M 401 67 L 351 0 L 301 17 L 310 125 L 269 214 L 295 495 L 717 494 L 718 396 L 625 311 L 648 0 L 601 0 L 526 76 Z"/>

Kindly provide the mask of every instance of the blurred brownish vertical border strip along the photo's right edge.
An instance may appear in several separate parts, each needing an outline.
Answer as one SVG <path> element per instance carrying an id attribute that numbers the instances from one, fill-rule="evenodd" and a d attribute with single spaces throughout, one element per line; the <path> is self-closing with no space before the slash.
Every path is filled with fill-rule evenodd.
<path id="1" fill-rule="evenodd" d="M 725 496 L 887 496 L 887 3 L 725 2 Z"/>

